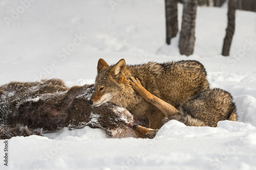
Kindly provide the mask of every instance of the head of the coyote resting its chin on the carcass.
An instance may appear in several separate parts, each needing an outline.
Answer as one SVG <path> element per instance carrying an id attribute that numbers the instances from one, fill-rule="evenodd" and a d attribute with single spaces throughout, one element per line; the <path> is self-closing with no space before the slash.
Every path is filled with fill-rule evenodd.
<path id="1" fill-rule="evenodd" d="M 95 92 L 89 103 L 92 106 L 100 106 L 103 103 L 112 102 L 120 106 L 113 101 L 117 101 L 118 96 L 121 97 L 125 89 L 127 91 L 127 87 L 131 88 L 125 77 L 125 60 L 121 59 L 114 66 L 109 66 L 103 59 L 99 59 L 97 71 Z"/>

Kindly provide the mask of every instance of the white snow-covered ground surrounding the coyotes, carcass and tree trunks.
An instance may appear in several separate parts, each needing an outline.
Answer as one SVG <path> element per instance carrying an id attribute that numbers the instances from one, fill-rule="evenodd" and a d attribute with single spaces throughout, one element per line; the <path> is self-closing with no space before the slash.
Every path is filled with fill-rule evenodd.
<path id="1" fill-rule="evenodd" d="M 172 45 L 164 43 L 164 1 L 114 1 L 120 2 L 114 8 L 103 0 L 30 1 L 20 1 L 26 8 L 19 1 L 0 1 L 0 85 L 41 78 L 70 86 L 93 83 L 99 58 L 109 64 L 121 58 L 129 64 L 193 59 L 205 65 L 211 87 L 234 96 L 240 118 L 217 128 L 173 120 L 155 139 L 111 139 L 88 127 L 13 137 L 8 166 L 0 143 L 1 169 L 256 168 L 255 13 L 237 11 L 231 57 L 224 58 L 227 5 L 198 8 L 195 53 L 187 58 L 179 55 L 179 35 Z M 181 14 L 179 5 L 179 25 Z"/>

